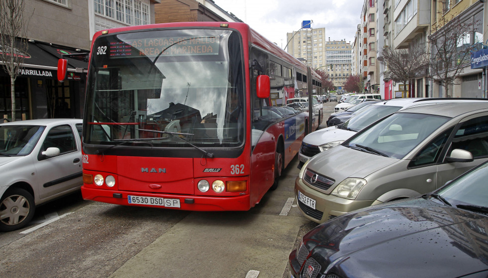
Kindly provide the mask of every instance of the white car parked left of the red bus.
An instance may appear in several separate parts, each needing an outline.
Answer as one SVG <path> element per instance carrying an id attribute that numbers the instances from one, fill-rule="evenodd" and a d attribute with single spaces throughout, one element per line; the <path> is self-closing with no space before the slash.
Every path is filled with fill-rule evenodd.
<path id="1" fill-rule="evenodd" d="M 82 120 L 0 124 L 0 231 L 19 229 L 35 207 L 83 185 Z"/>

